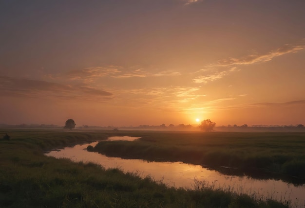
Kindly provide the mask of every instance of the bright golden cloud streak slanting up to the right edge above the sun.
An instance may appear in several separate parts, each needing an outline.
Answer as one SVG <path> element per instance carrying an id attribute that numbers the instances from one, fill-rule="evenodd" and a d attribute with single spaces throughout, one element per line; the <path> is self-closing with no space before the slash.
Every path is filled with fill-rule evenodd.
<path id="1" fill-rule="evenodd" d="M 208 83 L 211 81 L 221 79 L 233 71 L 240 70 L 237 69 L 238 66 L 247 66 L 258 63 L 264 63 L 267 61 L 271 61 L 275 57 L 288 53 L 296 53 L 304 49 L 305 49 L 304 44 L 300 44 L 300 45 L 286 44 L 283 47 L 268 52 L 267 54 L 251 54 L 241 58 L 222 59 L 219 60 L 217 63 L 207 65 L 205 66 L 204 69 L 200 69 L 199 71 L 197 71 L 197 73 L 201 73 L 203 75 L 199 75 L 193 78 L 192 80 L 195 83 Z M 213 72 L 215 69 L 218 70 L 216 72 Z"/>

